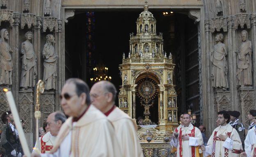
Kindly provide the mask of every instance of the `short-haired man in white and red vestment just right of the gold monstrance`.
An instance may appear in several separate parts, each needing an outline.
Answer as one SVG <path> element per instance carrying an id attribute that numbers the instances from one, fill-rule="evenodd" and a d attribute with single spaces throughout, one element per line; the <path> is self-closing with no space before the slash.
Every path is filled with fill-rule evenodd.
<path id="1" fill-rule="evenodd" d="M 201 131 L 190 123 L 189 114 L 183 114 L 183 124 L 178 136 L 173 134 L 171 139 L 177 148 L 176 157 L 199 157 L 199 146 L 203 144 Z"/>

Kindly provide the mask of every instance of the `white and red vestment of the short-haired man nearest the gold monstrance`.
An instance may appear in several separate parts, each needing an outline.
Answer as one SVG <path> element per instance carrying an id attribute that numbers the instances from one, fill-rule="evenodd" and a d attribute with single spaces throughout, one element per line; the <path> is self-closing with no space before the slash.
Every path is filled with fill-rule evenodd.
<path id="1" fill-rule="evenodd" d="M 194 128 L 194 137 L 189 137 L 189 140 L 186 140 L 186 141 L 179 140 L 181 138 L 181 135 L 186 135 L 186 134 L 191 135 L 193 128 Z M 178 130 L 178 134 L 179 134 L 178 138 L 171 139 L 172 146 L 177 148 L 176 157 L 181 157 L 180 155 L 182 155 L 183 157 L 192 157 L 192 146 L 200 146 L 203 144 L 203 137 L 202 137 L 201 131 L 199 130 L 199 128 L 194 127 L 192 124 L 190 124 L 187 127 L 182 126 Z M 182 147 L 181 152 L 180 152 L 180 147 Z M 196 150 L 194 154 L 196 156 Z"/>

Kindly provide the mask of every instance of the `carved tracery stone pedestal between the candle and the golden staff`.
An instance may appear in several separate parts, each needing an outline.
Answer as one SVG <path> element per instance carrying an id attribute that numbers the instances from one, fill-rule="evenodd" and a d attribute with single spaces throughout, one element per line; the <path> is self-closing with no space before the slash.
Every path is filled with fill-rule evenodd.
<path id="1" fill-rule="evenodd" d="M 33 91 L 19 91 L 18 93 L 18 111 L 21 119 L 25 123 L 25 136 L 28 139 L 28 145 L 30 150 L 33 148 L 33 104 L 34 104 L 34 92 Z"/>

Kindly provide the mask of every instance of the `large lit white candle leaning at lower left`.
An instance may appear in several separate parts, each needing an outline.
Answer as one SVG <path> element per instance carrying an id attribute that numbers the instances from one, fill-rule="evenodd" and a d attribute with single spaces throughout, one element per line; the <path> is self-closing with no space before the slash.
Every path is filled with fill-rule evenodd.
<path id="1" fill-rule="evenodd" d="M 31 156 L 30 151 L 28 149 L 27 140 L 25 138 L 25 134 L 24 134 L 23 128 L 21 126 L 20 116 L 18 115 L 16 104 L 14 102 L 14 97 L 13 97 L 11 91 L 8 91 L 7 89 L 4 89 L 4 91 L 6 93 L 6 98 L 9 103 L 12 116 L 14 117 L 15 126 L 16 126 L 16 129 L 18 130 L 18 136 L 19 136 L 19 139 L 21 142 L 21 146 L 22 146 L 24 155 L 26 155 L 27 157 L 30 157 Z"/>

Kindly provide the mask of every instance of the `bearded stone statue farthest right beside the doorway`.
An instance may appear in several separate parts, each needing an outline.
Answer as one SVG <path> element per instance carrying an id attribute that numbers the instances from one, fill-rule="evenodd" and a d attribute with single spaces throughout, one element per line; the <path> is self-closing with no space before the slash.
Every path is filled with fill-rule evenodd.
<path id="1" fill-rule="evenodd" d="M 251 86 L 252 85 L 252 44 L 248 38 L 248 32 L 243 30 L 241 32 L 241 40 L 242 43 L 240 45 L 240 50 L 237 53 L 238 61 L 237 61 L 237 85 Z"/>

